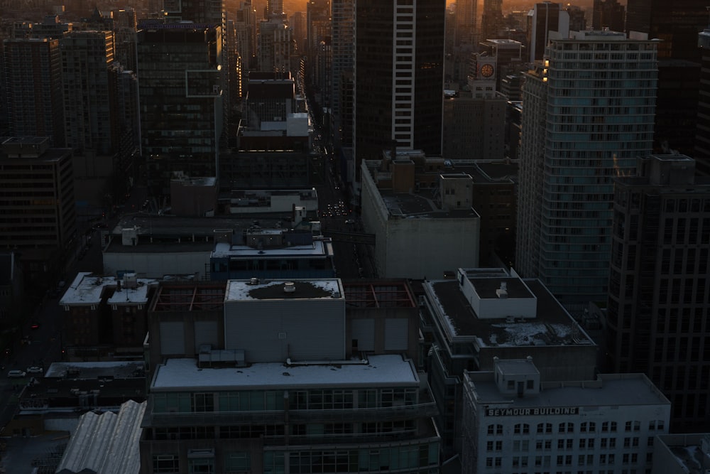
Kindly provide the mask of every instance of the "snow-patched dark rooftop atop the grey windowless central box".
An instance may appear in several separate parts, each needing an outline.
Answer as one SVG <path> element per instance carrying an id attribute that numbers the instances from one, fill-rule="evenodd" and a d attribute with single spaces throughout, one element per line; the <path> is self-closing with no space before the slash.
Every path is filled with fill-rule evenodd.
<path id="1" fill-rule="evenodd" d="M 224 301 L 322 298 L 344 298 L 339 279 L 230 280 Z"/>

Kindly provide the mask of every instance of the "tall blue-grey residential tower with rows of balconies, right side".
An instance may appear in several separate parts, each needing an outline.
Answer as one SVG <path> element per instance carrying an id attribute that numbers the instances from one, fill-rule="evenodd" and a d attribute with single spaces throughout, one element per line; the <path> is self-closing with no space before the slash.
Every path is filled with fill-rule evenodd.
<path id="1" fill-rule="evenodd" d="M 652 147 L 656 43 L 552 39 L 523 86 L 515 269 L 564 303 L 606 298 L 612 178 Z"/>

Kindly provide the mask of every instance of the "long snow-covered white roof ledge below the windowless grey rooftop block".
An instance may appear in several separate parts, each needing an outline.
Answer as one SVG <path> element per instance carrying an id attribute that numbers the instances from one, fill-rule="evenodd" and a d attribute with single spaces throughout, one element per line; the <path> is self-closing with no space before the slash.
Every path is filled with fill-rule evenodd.
<path id="1" fill-rule="evenodd" d="M 251 367 L 200 369 L 195 359 L 168 359 L 158 365 L 151 391 L 175 392 L 181 389 L 258 389 L 258 388 L 334 388 L 334 387 L 417 386 L 419 376 L 410 360 L 400 355 L 373 355 L 364 363 L 323 362 L 286 365 L 280 362 L 253 364 Z"/>

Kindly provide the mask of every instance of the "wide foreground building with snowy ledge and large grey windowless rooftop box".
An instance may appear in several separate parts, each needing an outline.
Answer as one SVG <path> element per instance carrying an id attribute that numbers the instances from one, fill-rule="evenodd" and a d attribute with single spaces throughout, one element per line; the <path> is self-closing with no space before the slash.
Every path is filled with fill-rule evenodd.
<path id="1" fill-rule="evenodd" d="M 436 406 L 403 357 L 415 328 L 400 321 L 413 319 L 416 306 L 400 291 L 393 298 L 396 288 L 368 289 L 382 311 L 369 296 L 353 296 L 361 310 L 355 349 L 345 343 L 348 293 L 337 279 L 229 281 L 222 294 L 197 293 L 189 306 L 177 288 L 161 293 L 141 473 L 437 470 Z M 392 317 L 404 299 L 409 316 Z M 205 301 L 223 313 L 203 318 Z M 375 312 L 391 316 L 373 321 Z M 368 323 L 384 323 L 384 341 L 373 341 Z"/>

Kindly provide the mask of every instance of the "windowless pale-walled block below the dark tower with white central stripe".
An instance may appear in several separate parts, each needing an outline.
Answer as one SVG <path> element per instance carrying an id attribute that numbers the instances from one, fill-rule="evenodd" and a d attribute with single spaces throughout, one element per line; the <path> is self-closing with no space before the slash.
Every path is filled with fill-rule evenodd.
<path id="1" fill-rule="evenodd" d="M 362 221 L 375 235 L 379 276 L 425 279 L 461 262 L 478 266 L 481 217 L 471 176 L 448 173 L 442 158 L 421 151 L 383 153 L 364 161 L 361 174 Z"/>

